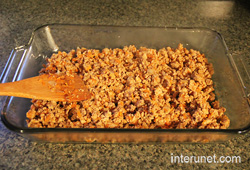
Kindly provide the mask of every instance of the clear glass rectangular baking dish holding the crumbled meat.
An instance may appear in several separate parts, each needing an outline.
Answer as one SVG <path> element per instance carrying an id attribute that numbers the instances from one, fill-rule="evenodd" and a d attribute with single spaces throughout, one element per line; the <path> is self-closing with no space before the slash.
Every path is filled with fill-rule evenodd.
<path id="1" fill-rule="evenodd" d="M 207 28 L 118 27 L 51 24 L 37 28 L 28 45 L 15 48 L 1 74 L 1 83 L 38 75 L 46 58 L 77 47 L 103 49 L 126 45 L 160 49 L 185 48 L 204 53 L 214 66 L 215 93 L 227 109 L 229 129 L 84 129 L 28 128 L 30 99 L 1 97 L 1 120 L 7 128 L 37 141 L 49 142 L 214 142 L 226 141 L 250 128 L 249 73 L 241 56 L 231 56 L 222 36 Z M 235 58 L 233 58 L 235 57 Z"/>

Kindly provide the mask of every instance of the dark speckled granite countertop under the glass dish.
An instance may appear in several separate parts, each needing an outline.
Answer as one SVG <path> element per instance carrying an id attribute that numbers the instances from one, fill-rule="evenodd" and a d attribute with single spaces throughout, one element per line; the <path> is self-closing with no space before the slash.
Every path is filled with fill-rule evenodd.
<path id="1" fill-rule="evenodd" d="M 208 27 L 250 65 L 250 6 L 238 1 L 0 1 L 0 72 L 14 47 L 44 24 Z M 250 133 L 213 144 L 55 144 L 0 122 L 0 169 L 249 169 Z M 241 163 L 171 163 L 173 155 L 240 156 Z"/>

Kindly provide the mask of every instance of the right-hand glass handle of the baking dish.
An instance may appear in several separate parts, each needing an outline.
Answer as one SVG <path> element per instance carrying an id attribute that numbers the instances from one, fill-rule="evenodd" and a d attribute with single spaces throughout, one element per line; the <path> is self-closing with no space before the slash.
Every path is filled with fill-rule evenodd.
<path id="1" fill-rule="evenodd" d="M 247 97 L 248 102 L 250 101 L 250 64 L 246 64 L 243 56 L 240 53 L 233 53 L 232 64 L 234 65 L 236 72 L 238 73 L 239 79 L 243 86 L 245 97 Z M 249 103 L 250 104 L 250 103 Z"/>

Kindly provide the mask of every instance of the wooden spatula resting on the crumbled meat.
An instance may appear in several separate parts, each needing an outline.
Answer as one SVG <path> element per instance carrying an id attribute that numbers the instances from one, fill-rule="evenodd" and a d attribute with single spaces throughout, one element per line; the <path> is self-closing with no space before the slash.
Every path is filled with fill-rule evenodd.
<path id="1" fill-rule="evenodd" d="M 0 84 L 0 95 L 54 101 L 80 101 L 91 97 L 88 88 L 78 75 L 57 74 L 43 74 Z"/>

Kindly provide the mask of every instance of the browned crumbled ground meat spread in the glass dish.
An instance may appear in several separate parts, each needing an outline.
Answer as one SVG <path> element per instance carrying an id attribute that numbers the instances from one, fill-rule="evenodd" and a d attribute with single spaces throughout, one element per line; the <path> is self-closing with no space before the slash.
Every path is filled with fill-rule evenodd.
<path id="1" fill-rule="evenodd" d="M 79 102 L 32 100 L 28 127 L 225 129 L 204 54 L 135 46 L 53 54 L 41 74 L 78 74 L 92 93 Z"/>

